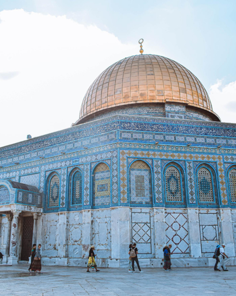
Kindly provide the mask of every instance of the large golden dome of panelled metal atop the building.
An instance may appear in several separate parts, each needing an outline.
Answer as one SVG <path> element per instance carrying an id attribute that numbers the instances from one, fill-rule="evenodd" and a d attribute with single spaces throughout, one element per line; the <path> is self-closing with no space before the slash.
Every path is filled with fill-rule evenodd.
<path id="1" fill-rule="evenodd" d="M 104 70 L 91 84 L 80 110 L 82 123 L 107 109 L 139 104 L 184 103 L 220 121 L 201 82 L 188 69 L 166 57 L 127 57 Z"/>

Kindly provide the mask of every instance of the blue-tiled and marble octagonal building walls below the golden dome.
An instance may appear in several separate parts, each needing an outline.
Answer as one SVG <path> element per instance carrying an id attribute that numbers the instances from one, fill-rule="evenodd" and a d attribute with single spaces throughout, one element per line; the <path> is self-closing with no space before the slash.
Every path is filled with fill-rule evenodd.
<path id="1" fill-rule="evenodd" d="M 123 106 L 0 148 L 5 263 L 21 260 L 33 216 L 43 264 L 85 266 L 94 244 L 99 266 L 127 267 L 131 242 L 143 267 L 161 267 L 168 243 L 173 266 L 213 265 L 222 242 L 236 264 L 236 124 L 208 115 L 184 103 Z"/>

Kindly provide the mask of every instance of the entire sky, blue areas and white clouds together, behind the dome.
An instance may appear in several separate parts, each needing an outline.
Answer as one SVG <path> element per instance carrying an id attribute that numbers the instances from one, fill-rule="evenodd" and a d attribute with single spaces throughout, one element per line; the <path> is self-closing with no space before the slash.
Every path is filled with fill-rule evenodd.
<path id="1" fill-rule="evenodd" d="M 69 127 L 93 80 L 139 54 L 140 38 L 145 54 L 193 72 L 222 121 L 236 122 L 235 15 L 236 1 L 1 0 L 0 95 L 11 118 L 0 117 L 0 147 Z"/>

